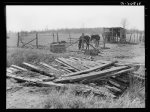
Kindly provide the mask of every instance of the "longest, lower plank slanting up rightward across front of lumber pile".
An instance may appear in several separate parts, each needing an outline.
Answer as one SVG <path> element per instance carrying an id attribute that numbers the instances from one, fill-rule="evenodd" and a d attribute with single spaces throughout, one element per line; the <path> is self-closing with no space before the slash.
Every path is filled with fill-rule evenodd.
<path id="1" fill-rule="evenodd" d="M 75 81 L 81 81 L 81 80 L 91 80 L 94 78 L 100 78 L 102 76 L 105 76 L 106 74 L 110 74 L 111 72 L 116 72 L 119 70 L 127 69 L 127 66 L 122 66 L 122 67 L 114 67 L 109 70 L 103 70 L 99 72 L 92 72 L 89 74 L 82 74 L 82 75 L 77 75 L 77 76 L 70 76 L 70 77 L 64 77 L 64 78 L 59 78 L 55 79 L 54 82 L 75 82 Z"/>

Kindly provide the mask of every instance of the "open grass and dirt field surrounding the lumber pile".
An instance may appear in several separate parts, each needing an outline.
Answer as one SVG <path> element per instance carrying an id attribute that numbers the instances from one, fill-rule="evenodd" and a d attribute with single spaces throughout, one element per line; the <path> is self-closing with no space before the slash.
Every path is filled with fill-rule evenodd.
<path id="1" fill-rule="evenodd" d="M 76 38 L 78 37 L 75 36 Z M 68 38 L 68 37 L 67 37 Z M 65 39 L 65 37 L 61 38 Z M 42 39 L 49 44 L 50 41 Z M 41 40 L 41 41 L 42 41 Z M 77 51 L 77 45 L 71 46 L 66 53 L 52 53 L 49 50 L 17 48 L 16 36 L 7 39 L 7 67 L 11 64 L 19 65 L 26 62 L 51 62 L 56 57 L 86 57 Z M 51 39 L 52 41 L 52 39 Z M 42 42 L 41 42 L 42 43 Z M 102 42 L 101 45 L 103 46 Z M 106 44 L 108 49 L 102 49 L 100 55 L 94 60 L 118 60 L 122 62 L 135 62 L 143 64 L 139 73 L 145 74 L 145 46 L 143 43 L 137 45 L 129 44 Z M 37 87 L 26 83 L 16 83 L 13 79 L 6 79 L 8 90 L 6 91 L 6 108 L 144 108 L 145 107 L 145 84 L 134 79 L 134 84 L 120 98 L 111 99 L 96 97 L 94 95 L 77 96 L 74 94 L 80 84 L 69 85 L 67 90 L 54 87 Z M 10 89 L 9 89 L 10 88 Z"/>

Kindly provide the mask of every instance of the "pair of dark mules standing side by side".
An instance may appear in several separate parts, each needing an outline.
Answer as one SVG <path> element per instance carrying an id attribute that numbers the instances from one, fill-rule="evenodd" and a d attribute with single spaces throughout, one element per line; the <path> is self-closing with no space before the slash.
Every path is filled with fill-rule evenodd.
<path id="1" fill-rule="evenodd" d="M 86 45 L 86 49 L 89 49 L 89 45 L 90 42 L 94 41 L 95 43 L 95 47 L 99 46 L 99 41 L 100 41 L 100 36 L 98 34 L 96 35 L 82 35 L 79 38 L 79 44 L 78 44 L 78 48 L 80 49 L 84 49 L 84 44 Z"/>

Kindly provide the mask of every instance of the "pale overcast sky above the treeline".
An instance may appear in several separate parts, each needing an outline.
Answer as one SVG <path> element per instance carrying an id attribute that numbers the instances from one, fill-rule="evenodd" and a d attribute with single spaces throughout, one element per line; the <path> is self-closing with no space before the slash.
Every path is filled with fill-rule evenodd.
<path id="1" fill-rule="evenodd" d="M 127 29 L 144 30 L 144 6 L 6 6 L 7 31 L 118 27 L 123 19 Z"/>

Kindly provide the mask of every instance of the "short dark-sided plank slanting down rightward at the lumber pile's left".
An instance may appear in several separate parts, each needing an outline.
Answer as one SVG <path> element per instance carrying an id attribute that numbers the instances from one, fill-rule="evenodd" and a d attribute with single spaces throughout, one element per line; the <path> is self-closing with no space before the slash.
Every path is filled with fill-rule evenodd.
<path id="1" fill-rule="evenodd" d="M 54 76 L 53 74 L 47 73 L 47 72 L 43 71 L 41 68 L 39 68 L 35 65 L 31 65 L 31 64 L 26 63 L 26 62 L 23 62 L 23 65 L 27 66 L 31 71 L 38 72 L 41 75 L 46 75 L 46 76 L 50 76 L 50 77 Z"/>

